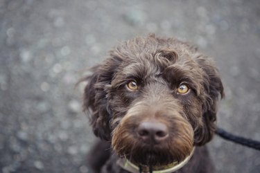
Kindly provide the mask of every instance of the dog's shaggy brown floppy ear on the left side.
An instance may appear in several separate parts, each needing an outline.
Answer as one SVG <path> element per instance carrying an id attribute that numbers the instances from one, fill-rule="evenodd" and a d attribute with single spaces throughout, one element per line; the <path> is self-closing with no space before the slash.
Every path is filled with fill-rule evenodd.
<path id="1" fill-rule="evenodd" d="M 108 95 L 116 68 L 121 63 L 120 60 L 119 57 L 108 58 L 103 64 L 94 66 L 92 75 L 83 79 L 87 82 L 83 107 L 85 111 L 89 111 L 94 134 L 103 140 L 111 138 L 110 119 L 112 115 Z"/>

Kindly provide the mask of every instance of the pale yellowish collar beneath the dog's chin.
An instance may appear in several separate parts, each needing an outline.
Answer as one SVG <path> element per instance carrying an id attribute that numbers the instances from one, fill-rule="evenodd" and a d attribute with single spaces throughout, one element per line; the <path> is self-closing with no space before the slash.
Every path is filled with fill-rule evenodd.
<path id="1" fill-rule="evenodd" d="M 171 172 L 180 170 L 180 168 L 182 168 L 184 165 L 186 165 L 188 163 L 188 161 L 191 159 L 191 156 L 193 156 L 194 150 L 195 150 L 195 147 L 193 147 L 191 154 L 189 156 L 187 156 L 187 158 L 185 158 L 184 161 L 182 161 L 181 163 L 177 163 L 177 161 L 175 161 L 174 163 L 167 165 L 166 169 L 164 169 L 164 170 L 157 170 L 155 168 L 155 171 L 153 171 L 153 173 L 171 173 Z M 140 173 L 139 166 L 135 165 L 134 163 L 131 163 L 127 158 L 120 158 L 116 163 L 118 165 L 120 165 L 120 167 L 122 167 L 123 170 L 127 170 L 128 172 L 131 172 L 131 173 Z M 142 168 L 142 170 L 144 170 L 144 172 L 142 171 L 142 173 L 149 172 L 148 166 L 141 166 L 141 168 Z"/>

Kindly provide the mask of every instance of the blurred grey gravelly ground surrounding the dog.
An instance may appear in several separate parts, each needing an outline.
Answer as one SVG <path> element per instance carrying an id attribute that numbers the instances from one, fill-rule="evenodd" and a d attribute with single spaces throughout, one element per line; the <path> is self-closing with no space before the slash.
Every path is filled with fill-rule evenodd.
<path id="1" fill-rule="evenodd" d="M 218 126 L 260 140 L 260 1 L 0 0 L 0 172 L 89 172 L 86 69 L 115 44 L 156 33 L 214 57 Z M 260 172 L 260 153 L 216 136 L 216 172 Z"/>

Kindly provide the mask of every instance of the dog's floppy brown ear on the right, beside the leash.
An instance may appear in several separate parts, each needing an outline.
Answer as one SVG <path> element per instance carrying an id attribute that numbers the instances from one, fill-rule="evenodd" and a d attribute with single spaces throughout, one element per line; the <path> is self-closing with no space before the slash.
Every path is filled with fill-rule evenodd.
<path id="1" fill-rule="evenodd" d="M 204 89 L 206 92 L 205 102 L 202 105 L 203 115 L 202 127 L 196 129 L 195 145 L 204 145 L 209 142 L 216 131 L 216 113 L 218 109 L 218 99 L 225 96 L 223 84 L 220 80 L 218 70 L 210 58 L 198 57 L 198 64 L 205 72 Z"/>

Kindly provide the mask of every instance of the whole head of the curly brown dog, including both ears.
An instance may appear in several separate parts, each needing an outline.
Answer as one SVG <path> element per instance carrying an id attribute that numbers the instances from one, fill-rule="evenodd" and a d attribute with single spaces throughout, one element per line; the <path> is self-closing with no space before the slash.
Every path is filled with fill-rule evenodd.
<path id="1" fill-rule="evenodd" d="M 211 59 L 176 39 L 124 42 L 85 78 L 94 134 L 139 165 L 183 161 L 211 140 L 223 85 Z"/>

